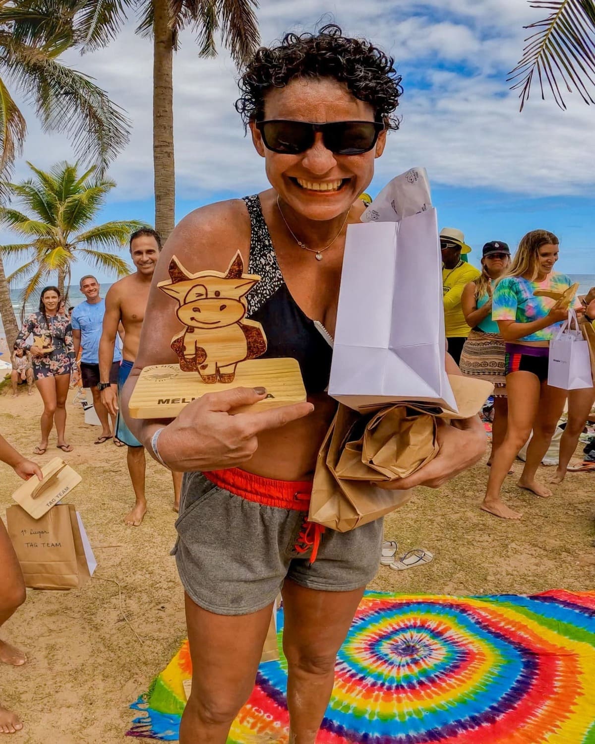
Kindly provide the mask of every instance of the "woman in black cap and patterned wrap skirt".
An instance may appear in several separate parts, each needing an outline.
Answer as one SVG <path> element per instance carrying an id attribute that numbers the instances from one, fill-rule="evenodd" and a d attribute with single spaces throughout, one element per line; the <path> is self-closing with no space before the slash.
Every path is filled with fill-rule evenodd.
<path id="1" fill-rule="evenodd" d="M 486 379 L 494 385 L 492 452 L 488 465 L 492 464 L 494 453 L 504 441 L 508 416 L 504 364 L 506 352 L 498 324 L 492 320 L 492 294 L 496 280 L 506 272 L 509 261 L 510 249 L 506 243 L 486 243 L 481 257 L 481 274 L 466 285 L 461 298 L 463 314 L 471 332 L 463 346 L 460 371 L 472 377 Z"/>

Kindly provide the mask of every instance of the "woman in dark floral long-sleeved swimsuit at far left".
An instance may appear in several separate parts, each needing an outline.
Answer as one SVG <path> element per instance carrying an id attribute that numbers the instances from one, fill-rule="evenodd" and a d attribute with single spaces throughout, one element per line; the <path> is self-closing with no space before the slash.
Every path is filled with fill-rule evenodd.
<path id="1" fill-rule="evenodd" d="M 34 343 L 30 348 L 33 361 L 33 378 L 43 400 L 41 417 L 42 439 L 34 452 L 43 455 L 48 449 L 51 428 L 56 424 L 58 449 L 71 452 L 72 447 L 66 443 L 66 397 L 70 375 L 74 368 L 74 344 L 72 327 L 66 315 L 58 312 L 60 291 L 55 286 L 42 289 L 39 299 L 39 312 L 29 315 L 19 336 L 16 346 L 27 348 L 26 341 L 33 334 Z"/>

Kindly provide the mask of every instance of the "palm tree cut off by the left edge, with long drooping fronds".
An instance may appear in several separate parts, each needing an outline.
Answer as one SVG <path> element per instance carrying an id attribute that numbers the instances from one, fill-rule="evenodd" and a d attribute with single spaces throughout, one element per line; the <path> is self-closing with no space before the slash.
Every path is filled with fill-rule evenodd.
<path id="1" fill-rule="evenodd" d="M 128 141 L 122 109 L 89 76 L 60 62 L 74 44 L 72 15 L 60 0 L 0 0 L 0 202 L 27 132 L 11 89 L 33 104 L 46 131 L 65 132 L 101 173 Z M 1 260 L 0 316 L 12 347 L 18 327 Z"/>

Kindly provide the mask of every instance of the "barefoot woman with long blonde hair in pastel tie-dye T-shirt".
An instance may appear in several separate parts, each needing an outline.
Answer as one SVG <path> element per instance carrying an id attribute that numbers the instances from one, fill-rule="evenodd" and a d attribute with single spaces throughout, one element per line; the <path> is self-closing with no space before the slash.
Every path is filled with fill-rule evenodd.
<path id="1" fill-rule="evenodd" d="M 565 390 L 547 384 L 547 366 L 550 339 L 568 311 L 556 308 L 553 299 L 536 297 L 535 292 L 560 291 L 570 286 L 566 275 L 553 272 L 558 254 L 556 235 L 546 230 L 527 233 L 518 244 L 506 276 L 496 284 L 492 298 L 492 318 L 506 341 L 508 428 L 504 442 L 495 452 L 481 508 L 504 519 L 522 516 L 504 504 L 500 490 L 532 429 L 527 462 L 518 485 L 537 496 L 552 493 L 536 481 L 536 472 L 550 446 L 567 395 Z M 576 308 L 579 307 L 576 301 Z"/>

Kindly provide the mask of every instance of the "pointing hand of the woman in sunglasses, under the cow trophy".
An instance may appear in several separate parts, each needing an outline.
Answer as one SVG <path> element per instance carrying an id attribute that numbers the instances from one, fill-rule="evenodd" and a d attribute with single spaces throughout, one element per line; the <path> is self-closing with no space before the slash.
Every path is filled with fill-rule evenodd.
<path id="1" fill-rule="evenodd" d="M 261 390 L 232 388 L 189 403 L 159 434 L 157 446 L 164 463 L 182 472 L 236 467 L 254 455 L 260 432 L 278 429 L 314 410 L 312 403 L 295 403 L 233 414 L 242 405 L 263 400 L 266 391 Z"/>

